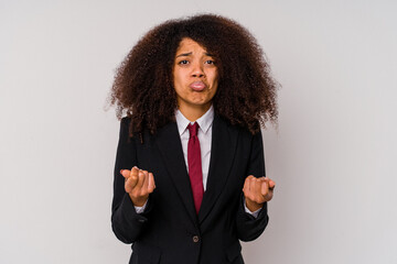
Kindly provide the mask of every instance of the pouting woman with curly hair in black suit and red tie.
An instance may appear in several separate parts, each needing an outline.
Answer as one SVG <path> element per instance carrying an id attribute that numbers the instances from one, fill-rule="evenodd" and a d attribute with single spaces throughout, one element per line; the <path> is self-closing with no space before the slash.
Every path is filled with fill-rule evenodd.
<path id="1" fill-rule="evenodd" d="M 260 124 L 276 84 L 255 38 L 212 14 L 167 21 L 119 67 L 111 224 L 130 263 L 244 263 L 268 223 Z"/>

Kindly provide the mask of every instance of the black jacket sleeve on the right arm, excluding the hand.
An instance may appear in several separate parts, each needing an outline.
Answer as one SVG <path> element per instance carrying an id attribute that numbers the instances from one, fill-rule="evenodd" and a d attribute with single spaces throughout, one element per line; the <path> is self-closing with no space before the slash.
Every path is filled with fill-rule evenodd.
<path id="1" fill-rule="evenodd" d="M 264 144 L 260 131 L 251 139 L 249 163 L 245 177 L 248 175 L 254 175 L 255 177 L 266 176 Z M 242 241 L 251 241 L 257 239 L 264 232 L 268 220 L 267 202 L 264 204 L 258 217 L 255 218 L 245 211 L 244 194 L 242 194 L 236 215 L 238 239 Z"/>

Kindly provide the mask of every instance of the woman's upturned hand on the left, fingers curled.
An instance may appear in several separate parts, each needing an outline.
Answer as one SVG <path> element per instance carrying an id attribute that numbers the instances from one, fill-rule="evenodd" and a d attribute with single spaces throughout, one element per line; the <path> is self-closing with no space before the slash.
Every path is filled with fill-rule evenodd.
<path id="1" fill-rule="evenodd" d="M 129 194 L 133 206 L 142 207 L 155 188 L 153 174 L 138 167 L 132 167 L 131 170 L 121 169 L 120 174 L 126 179 L 125 189 Z"/>

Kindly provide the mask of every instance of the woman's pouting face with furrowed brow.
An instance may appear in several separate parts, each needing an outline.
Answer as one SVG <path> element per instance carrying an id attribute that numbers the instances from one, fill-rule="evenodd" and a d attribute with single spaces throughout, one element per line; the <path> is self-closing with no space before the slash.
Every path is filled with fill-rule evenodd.
<path id="1" fill-rule="evenodd" d="M 173 81 L 179 109 L 205 112 L 218 84 L 215 59 L 195 41 L 183 38 L 174 61 Z"/>

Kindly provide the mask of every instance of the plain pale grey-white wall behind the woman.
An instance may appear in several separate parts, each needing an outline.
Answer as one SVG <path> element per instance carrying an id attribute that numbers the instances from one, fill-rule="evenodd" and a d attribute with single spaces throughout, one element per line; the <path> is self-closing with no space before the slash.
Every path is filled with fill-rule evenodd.
<path id="1" fill-rule="evenodd" d="M 0 263 L 127 263 L 110 228 L 115 69 L 168 19 L 232 18 L 279 90 L 247 263 L 397 263 L 396 1 L 0 0 Z"/>

